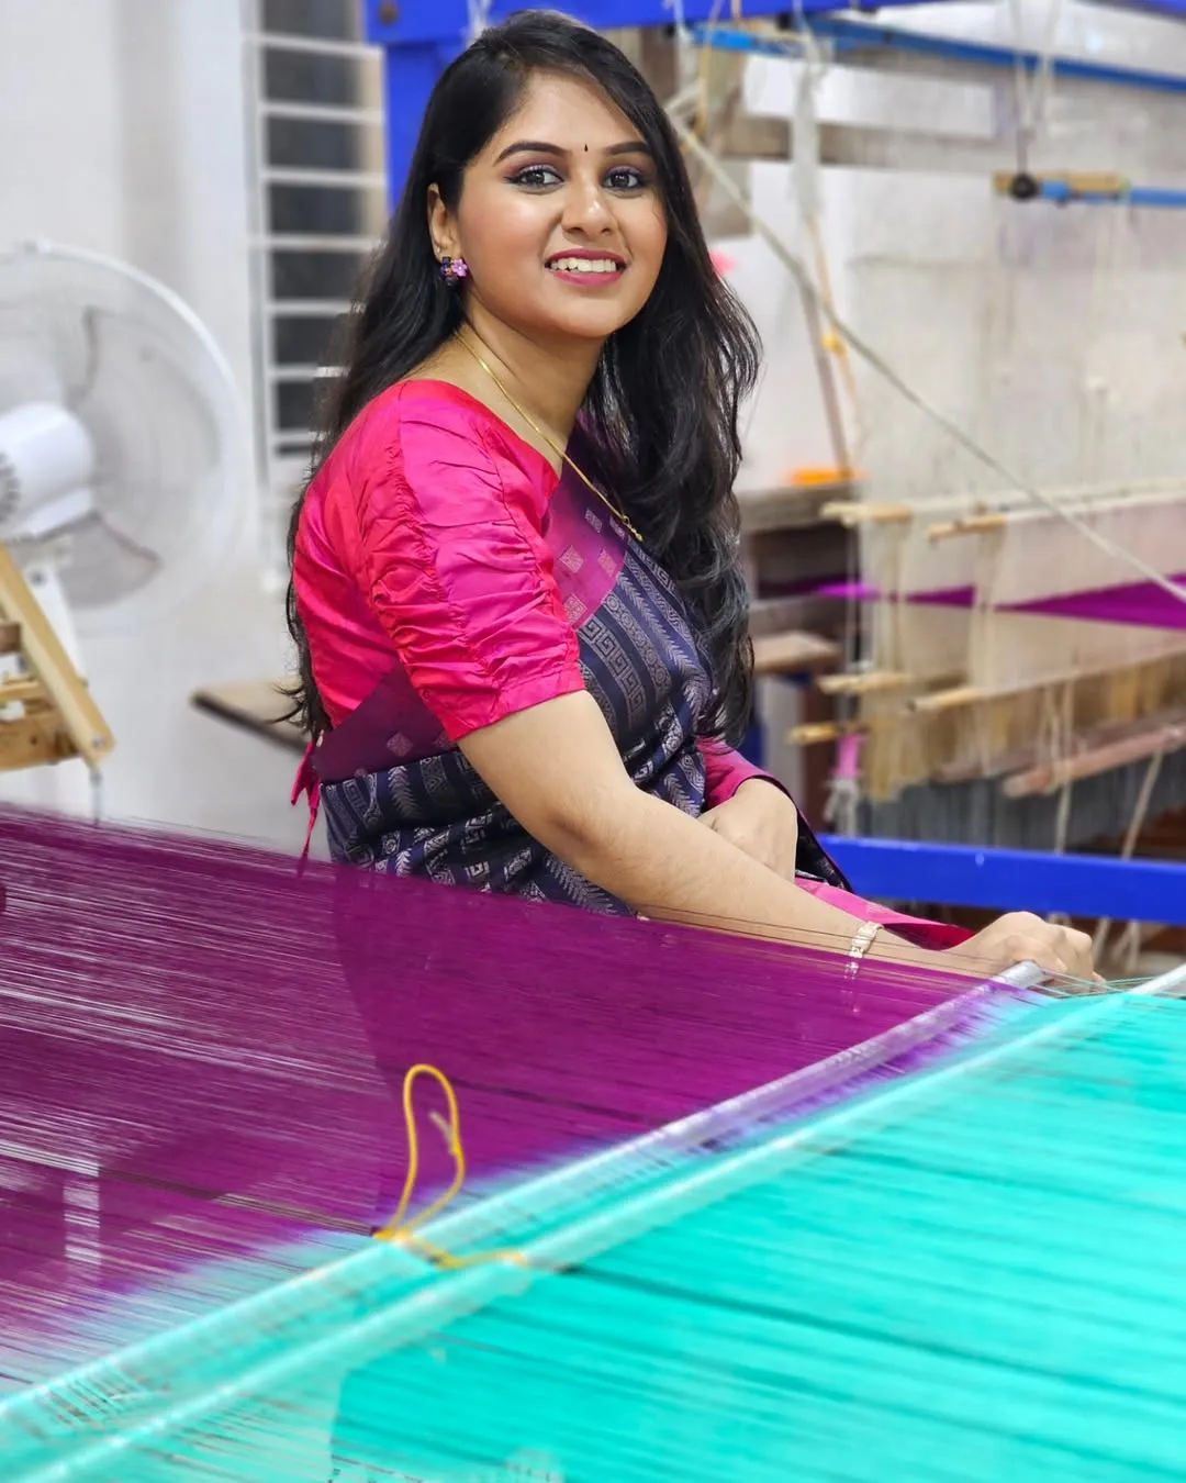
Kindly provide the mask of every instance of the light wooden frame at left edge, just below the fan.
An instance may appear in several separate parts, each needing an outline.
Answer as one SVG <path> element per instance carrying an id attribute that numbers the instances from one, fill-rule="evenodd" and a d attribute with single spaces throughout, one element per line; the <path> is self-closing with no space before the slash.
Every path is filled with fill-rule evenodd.
<path id="1" fill-rule="evenodd" d="M 6 654 L 19 654 L 28 673 L 7 679 L 0 673 L 0 771 L 71 758 L 96 771 L 116 739 L 21 568 L 0 546 L 0 655 Z"/>

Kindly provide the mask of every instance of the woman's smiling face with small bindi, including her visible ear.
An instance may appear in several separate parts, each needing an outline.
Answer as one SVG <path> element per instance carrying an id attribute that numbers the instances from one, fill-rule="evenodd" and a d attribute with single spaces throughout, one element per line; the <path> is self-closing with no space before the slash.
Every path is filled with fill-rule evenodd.
<path id="1" fill-rule="evenodd" d="M 637 129 L 592 83 L 529 79 L 522 105 L 466 169 L 437 254 L 464 258 L 468 311 L 532 340 L 602 341 L 642 308 L 667 246 L 655 168 Z"/>

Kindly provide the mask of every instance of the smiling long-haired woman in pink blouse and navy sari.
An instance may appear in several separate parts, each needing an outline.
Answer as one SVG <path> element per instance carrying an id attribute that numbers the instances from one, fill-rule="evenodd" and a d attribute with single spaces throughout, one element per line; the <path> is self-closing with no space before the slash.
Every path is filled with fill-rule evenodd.
<path id="1" fill-rule="evenodd" d="M 958 965 L 940 949 L 967 934 L 849 896 L 729 749 L 758 350 L 623 53 L 543 12 L 486 31 L 428 104 L 294 513 L 302 785 L 335 857 L 854 971 Z M 1087 937 L 1027 915 L 959 957 L 1091 971 Z"/>

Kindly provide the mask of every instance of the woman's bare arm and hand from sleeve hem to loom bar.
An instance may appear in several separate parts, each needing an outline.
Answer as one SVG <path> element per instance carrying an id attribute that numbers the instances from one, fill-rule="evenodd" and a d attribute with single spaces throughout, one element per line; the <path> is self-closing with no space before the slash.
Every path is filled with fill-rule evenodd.
<path id="1" fill-rule="evenodd" d="M 519 823 L 587 879 L 666 921 L 845 951 L 861 922 L 815 900 L 728 839 L 637 789 L 596 701 L 563 696 L 507 716 L 461 750 Z M 965 949 L 987 976 L 1033 960 L 1048 973 L 1090 973 L 1088 939 L 1038 918 L 1002 918 Z M 882 933 L 873 958 L 958 968 Z"/>

